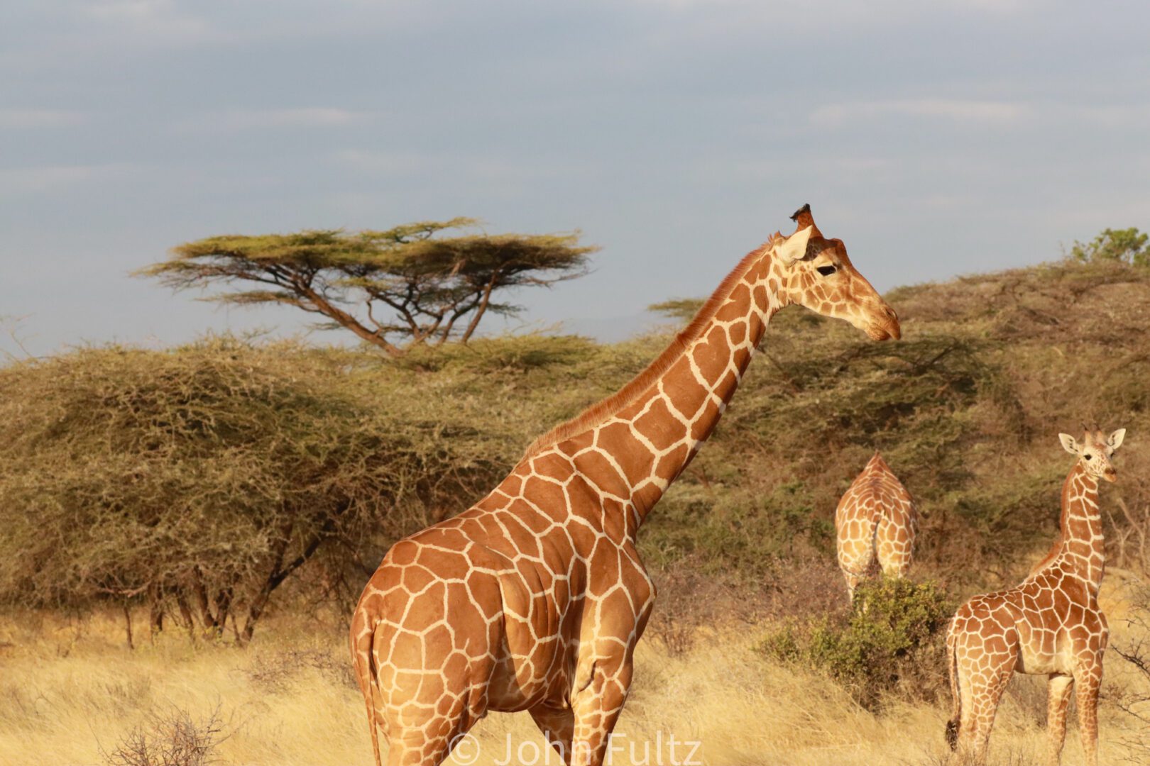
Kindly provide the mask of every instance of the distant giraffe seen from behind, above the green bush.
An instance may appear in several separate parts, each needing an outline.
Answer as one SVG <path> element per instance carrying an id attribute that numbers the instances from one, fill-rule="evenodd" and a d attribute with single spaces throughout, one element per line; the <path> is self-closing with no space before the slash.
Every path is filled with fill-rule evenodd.
<path id="1" fill-rule="evenodd" d="M 838 566 L 851 601 L 859 582 L 880 570 L 906 574 L 918 525 L 914 500 L 876 450 L 835 509 Z"/>

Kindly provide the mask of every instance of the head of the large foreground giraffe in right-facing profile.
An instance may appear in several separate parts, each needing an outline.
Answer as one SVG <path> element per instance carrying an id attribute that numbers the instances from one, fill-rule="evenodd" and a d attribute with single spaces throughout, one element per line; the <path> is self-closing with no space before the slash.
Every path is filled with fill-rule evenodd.
<path id="1" fill-rule="evenodd" d="M 845 319 L 873 340 L 900 338 L 898 315 L 851 264 L 843 240 L 822 235 L 810 204 L 799 208 L 791 220 L 798 229 L 790 237 L 776 237 L 774 245 L 780 297 L 825 317 Z"/>

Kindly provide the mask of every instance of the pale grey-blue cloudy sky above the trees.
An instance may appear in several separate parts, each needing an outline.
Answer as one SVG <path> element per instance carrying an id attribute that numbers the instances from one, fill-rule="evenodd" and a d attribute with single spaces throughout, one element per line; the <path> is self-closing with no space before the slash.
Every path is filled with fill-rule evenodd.
<path id="1" fill-rule="evenodd" d="M 459 215 L 582 229 L 596 272 L 526 318 L 608 335 L 803 202 L 880 289 L 1050 260 L 1150 227 L 1148 28 L 1145 2 L 0 0 L 0 316 L 33 354 L 290 331 L 126 274 Z"/>

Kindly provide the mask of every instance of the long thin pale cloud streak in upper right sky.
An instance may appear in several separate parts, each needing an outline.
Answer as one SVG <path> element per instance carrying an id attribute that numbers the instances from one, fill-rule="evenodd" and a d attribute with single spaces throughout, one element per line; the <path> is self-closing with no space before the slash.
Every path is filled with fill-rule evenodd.
<path id="1" fill-rule="evenodd" d="M 919 117 L 949 122 L 1009 125 L 1032 113 L 1026 103 L 1012 101 L 977 101 L 966 99 L 902 99 L 890 101 L 853 101 L 830 103 L 811 113 L 815 125 L 836 127 L 859 119 L 884 117 Z"/>

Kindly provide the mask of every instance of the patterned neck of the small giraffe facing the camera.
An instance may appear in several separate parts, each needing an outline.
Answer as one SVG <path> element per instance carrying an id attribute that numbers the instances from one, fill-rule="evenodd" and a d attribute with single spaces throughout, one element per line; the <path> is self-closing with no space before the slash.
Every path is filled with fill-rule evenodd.
<path id="1" fill-rule="evenodd" d="M 1106 560 L 1102 513 L 1098 509 L 1098 478 L 1074 464 L 1063 485 L 1061 532 L 1051 550 L 1052 562 L 1061 562 L 1084 580 L 1095 594 L 1102 585 Z"/>

